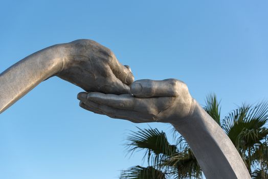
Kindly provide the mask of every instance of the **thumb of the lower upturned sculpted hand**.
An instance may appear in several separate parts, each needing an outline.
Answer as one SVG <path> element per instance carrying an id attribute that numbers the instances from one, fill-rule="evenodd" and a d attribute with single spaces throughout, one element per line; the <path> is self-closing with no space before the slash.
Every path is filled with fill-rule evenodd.
<path id="1" fill-rule="evenodd" d="M 138 98 L 150 97 L 176 97 L 180 87 L 187 87 L 186 84 L 176 79 L 157 80 L 137 80 L 130 86 L 130 91 Z"/>

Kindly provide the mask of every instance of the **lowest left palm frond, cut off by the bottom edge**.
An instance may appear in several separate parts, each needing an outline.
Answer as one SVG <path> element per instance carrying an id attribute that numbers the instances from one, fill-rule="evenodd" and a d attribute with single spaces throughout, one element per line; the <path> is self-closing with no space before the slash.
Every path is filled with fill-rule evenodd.
<path id="1" fill-rule="evenodd" d="M 121 172 L 120 179 L 165 179 L 165 173 L 151 166 L 134 166 Z"/>

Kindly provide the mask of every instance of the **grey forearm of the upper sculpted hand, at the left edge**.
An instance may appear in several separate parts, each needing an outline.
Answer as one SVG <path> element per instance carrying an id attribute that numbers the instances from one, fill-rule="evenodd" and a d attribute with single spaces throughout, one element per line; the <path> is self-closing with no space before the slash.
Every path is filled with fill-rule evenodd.
<path id="1" fill-rule="evenodd" d="M 62 68 L 64 49 L 60 45 L 38 51 L 0 74 L 0 113 Z"/>

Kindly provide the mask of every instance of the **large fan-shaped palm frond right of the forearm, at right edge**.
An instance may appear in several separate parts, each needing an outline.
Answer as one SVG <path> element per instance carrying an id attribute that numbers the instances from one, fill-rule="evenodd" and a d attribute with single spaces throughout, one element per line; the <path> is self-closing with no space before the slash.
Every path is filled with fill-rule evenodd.
<path id="1" fill-rule="evenodd" d="M 256 106 L 243 104 L 222 121 L 222 128 L 236 147 L 248 148 L 267 135 L 267 129 L 264 128 L 267 120 L 268 103 L 261 102 Z"/>

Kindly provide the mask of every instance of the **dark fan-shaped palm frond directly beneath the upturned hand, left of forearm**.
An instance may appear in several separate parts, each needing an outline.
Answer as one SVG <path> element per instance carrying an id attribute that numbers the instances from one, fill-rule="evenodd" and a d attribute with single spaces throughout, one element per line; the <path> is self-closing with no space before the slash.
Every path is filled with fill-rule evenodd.
<path id="1" fill-rule="evenodd" d="M 138 129 L 136 132 L 132 131 L 131 135 L 127 137 L 127 141 L 129 141 L 126 144 L 128 152 L 144 149 L 144 156 L 148 156 L 148 163 L 154 166 L 166 156 L 176 152 L 176 146 L 169 144 L 165 132 L 160 132 L 156 128 Z"/>

